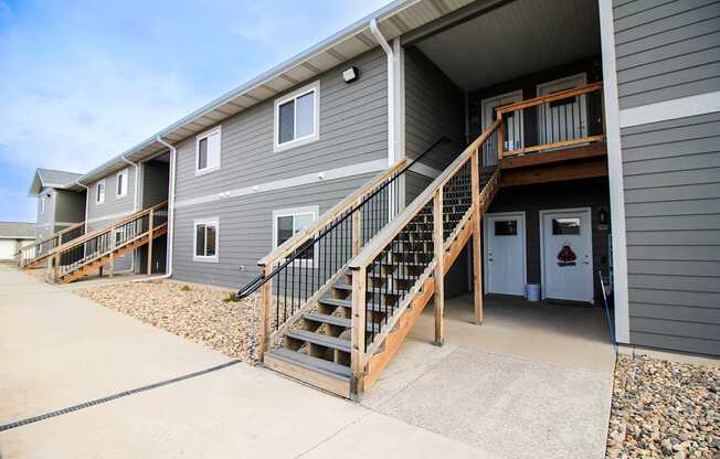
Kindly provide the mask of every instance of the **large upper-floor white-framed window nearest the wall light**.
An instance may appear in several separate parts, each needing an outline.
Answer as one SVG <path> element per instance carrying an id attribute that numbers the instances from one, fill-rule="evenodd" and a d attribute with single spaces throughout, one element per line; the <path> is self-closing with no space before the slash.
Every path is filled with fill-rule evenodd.
<path id="1" fill-rule="evenodd" d="M 320 138 L 320 82 L 275 100 L 275 151 Z"/>

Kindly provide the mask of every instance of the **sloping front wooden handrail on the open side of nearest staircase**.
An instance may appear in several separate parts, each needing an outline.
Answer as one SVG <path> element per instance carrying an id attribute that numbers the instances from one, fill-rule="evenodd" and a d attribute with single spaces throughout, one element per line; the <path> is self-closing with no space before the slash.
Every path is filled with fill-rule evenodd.
<path id="1" fill-rule="evenodd" d="M 473 143 L 470 143 L 465 151 L 458 156 L 455 161 L 448 166 L 443 173 L 441 173 L 433 182 L 425 188 L 425 190 L 415 200 L 405 207 L 395 218 L 393 218 L 383 230 L 380 231 L 354 257 L 348 267 L 350 269 L 364 269 L 372 263 L 380 252 L 392 241 L 398 233 L 400 233 L 410 221 L 427 204 L 434 196 L 440 188 L 445 185 L 453 175 L 469 161 L 473 153 L 478 150 L 483 143 L 493 135 L 493 132 L 500 126 L 501 120 L 496 120 L 489 128 L 487 128 Z"/>

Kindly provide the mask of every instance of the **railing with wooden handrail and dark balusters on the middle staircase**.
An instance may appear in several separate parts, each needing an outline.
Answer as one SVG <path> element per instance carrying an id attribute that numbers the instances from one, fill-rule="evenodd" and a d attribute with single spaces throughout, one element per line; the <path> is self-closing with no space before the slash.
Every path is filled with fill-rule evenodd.
<path id="1" fill-rule="evenodd" d="M 113 259 L 115 252 L 137 243 L 146 236 L 149 242 L 155 232 L 167 226 L 167 220 L 168 203 L 166 201 L 60 246 L 54 250 L 49 264 L 47 280 L 62 280 L 104 257 Z"/>

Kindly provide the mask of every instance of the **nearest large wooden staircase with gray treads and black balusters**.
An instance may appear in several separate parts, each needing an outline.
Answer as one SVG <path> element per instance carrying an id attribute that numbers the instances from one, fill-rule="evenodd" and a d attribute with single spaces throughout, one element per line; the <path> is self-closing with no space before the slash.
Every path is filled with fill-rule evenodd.
<path id="1" fill-rule="evenodd" d="M 495 138 L 497 127 L 498 122 L 484 132 L 362 247 L 357 247 L 361 231 L 353 225 L 356 250 L 350 260 L 314 289 L 299 308 L 290 308 L 289 319 L 280 318 L 288 303 L 287 298 L 277 301 L 283 290 L 277 288 L 273 295 L 268 285 L 269 279 L 279 280 L 278 270 L 265 266 L 260 340 L 265 366 L 342 397 L 361 396 L 398 352 L 431 299 L 435 343 L 443 343 L 444 276 L 472 237 L 475 308 L 481 320 L 480 217 L 497 193 L 500 169 L 484 173 L 488 171 L 479 167 L 478 149 Z M 354 207 L 347 212 L 362 226 L 361 212 Z M 325 235 L 308 234 L 316 238 Z M 298 238 L 294 247 L 300 246 Z M 276 307 L 275 316 L 271 305 Z M 271 317 L 284 322 L 273 334 L 267 329 Z"/>

